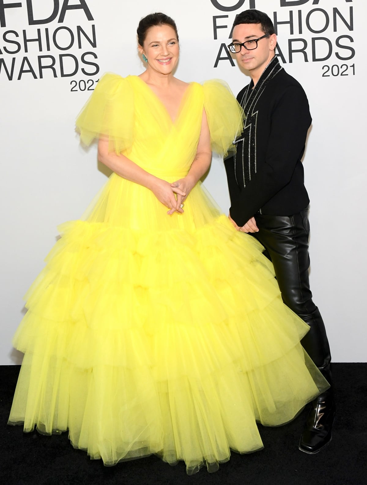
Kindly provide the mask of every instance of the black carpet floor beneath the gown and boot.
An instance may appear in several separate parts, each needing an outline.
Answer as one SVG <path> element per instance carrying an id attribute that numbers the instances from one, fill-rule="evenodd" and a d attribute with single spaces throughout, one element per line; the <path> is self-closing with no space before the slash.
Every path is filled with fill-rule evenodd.
<path id="1" fill-rule="evenodd" d="M 24 434 L 6 424 L 19 366 L 0 367 L 0 484 L 3 485 L 366 485 L 367 364 L 334 364 L 337 415 L 333 440 L 315 455 L 298 450 L 306 410 L 278 428 L 260 426 L 264 450 L 239 455 L 216 473 L 187 476 L 155 456 L 104 467 L 74 450 L 67 438 Z"/>

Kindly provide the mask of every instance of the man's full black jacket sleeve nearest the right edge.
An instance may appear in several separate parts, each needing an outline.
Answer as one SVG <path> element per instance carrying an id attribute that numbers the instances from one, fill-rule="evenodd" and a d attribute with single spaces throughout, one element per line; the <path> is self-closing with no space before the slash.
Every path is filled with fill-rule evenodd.
<path id="1" fill-rule="evenodd" d="M 230 214 L 243 226 L 290 181 L 301 159 L 311 124 L 307 97 L 301 86 L 287 87 L 271 113 L 265 164 L 233 202 Z M 261 140 L 258 140 L 261 143 Z"/>

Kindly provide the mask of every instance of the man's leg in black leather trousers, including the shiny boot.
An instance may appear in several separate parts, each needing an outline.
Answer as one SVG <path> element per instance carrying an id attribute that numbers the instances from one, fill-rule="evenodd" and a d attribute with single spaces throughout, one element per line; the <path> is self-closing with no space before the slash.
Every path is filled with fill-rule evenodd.
<path id="1" fill-rule="evenodd" d="M 273 263 L 284 303 L 310 327 L 302 339 L 303 348 L 331 386 L 311 403 L 299 443 L 301 451 L 318 453 L 332 438 L 335 403 L 329 342 L 309 285 L 308 208 L 291 216 L 256 214 L 255 220 L 259 232 L 253 236 Z"/>

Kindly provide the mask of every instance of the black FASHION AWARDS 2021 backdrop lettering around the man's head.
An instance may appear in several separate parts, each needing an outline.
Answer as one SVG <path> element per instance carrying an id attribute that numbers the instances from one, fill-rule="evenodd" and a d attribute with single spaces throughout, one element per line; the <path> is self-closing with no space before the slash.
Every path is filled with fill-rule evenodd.
<path id="1" fill-rule="evenodd" d="M 233 22 L 240 12 L 256 8 L 260 2 L 210 2 L 219 11 L 218 15 L 212 16 L 214 52 L 217 52 L 214 67 L 219 63 L 234 67 L 235 60 L 227 48 L 232 38 Z M 352 3 L 353 0 L 271 0 L 271 7 L 278 5 L 277 10 L 267 11 L 267 14 L 278 34 L 276 53 L 279 61 L 283 64 L 327 63 L 321 65 L 322 77 L 354 75 L 355 65 L 351 64 L 355 56 Z"/>

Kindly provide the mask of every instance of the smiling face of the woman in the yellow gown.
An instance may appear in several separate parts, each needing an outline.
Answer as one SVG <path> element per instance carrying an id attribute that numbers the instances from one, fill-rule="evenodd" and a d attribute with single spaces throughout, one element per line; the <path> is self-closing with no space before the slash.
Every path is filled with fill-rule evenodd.
<path id="1" fill-rule="evenodd" d="M 179 47 L 175 30 L 170 25 L 156 25 L 146 32 L 141 54 L 148 65 L 160 74 L 170 74 L 177 65 Z"/>

